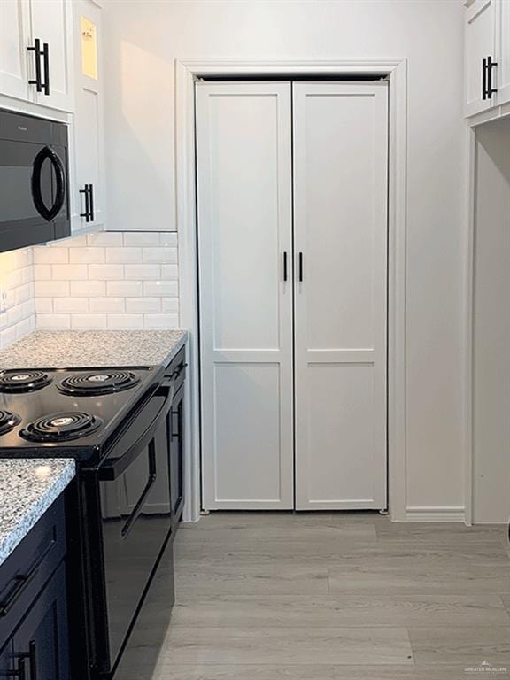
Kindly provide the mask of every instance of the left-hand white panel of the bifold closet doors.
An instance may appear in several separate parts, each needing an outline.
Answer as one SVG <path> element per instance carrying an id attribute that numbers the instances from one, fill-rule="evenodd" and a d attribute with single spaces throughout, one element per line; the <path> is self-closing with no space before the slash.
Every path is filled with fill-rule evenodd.
<path id="1" fill-rule="evenodd" d="M 196 92 L 203 504 L 292 508 L 290 83 Z"/>

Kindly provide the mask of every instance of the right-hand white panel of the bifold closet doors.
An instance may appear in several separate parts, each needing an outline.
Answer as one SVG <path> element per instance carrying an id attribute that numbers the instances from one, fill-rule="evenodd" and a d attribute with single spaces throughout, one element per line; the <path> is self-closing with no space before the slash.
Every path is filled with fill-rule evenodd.
<path id="1" fill-rule="evenodd" d="M 294 86 L 298 509 L 386 505 L 387 86 Z"/>

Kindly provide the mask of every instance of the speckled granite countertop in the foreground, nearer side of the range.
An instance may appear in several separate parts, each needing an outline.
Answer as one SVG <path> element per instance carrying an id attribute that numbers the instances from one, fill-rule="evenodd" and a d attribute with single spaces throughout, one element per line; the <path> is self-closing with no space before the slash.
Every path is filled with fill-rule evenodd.
<path id="1" fill-rule="evenodd" d="M 74 475 L 72 459 L 0 460 L 0 564 Z"/>

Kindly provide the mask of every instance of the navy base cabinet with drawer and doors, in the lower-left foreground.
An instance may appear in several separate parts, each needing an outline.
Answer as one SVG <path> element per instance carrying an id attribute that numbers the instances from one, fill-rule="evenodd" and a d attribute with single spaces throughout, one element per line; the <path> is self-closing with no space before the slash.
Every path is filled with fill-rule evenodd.
<path id="1" fill-rule="evenodd" d="M 65 556 L 58 498 L 0 566 L 0 678 L 69 680 Z"/>

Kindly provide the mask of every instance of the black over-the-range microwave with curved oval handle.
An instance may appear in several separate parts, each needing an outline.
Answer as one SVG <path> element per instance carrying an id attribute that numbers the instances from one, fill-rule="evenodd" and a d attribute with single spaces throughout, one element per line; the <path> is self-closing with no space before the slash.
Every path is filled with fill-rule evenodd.
<path id="1" fill-rule="evenodd" d="M 0 111 L 0 251 L 71 235 L 67 126 Z"/>

